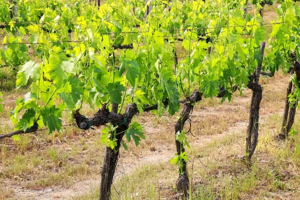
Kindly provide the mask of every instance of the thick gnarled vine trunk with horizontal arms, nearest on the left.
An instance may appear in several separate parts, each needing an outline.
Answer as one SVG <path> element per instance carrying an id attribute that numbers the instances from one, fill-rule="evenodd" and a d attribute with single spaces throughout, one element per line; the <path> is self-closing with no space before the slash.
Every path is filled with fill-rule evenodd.
<path id="1" fill-rule="evenodd" d="M 190 101 L 190 98 L 179 100 L 179 103 L 184 103 Z M 168 100 L 163 101 L 164 106 L 168 105 Z M 143 111 L 155 110 L 158 108 L 157 104 L 154 105 L 144 105 Z M 119 148 L 121 146 L 122 137 L 125 134 L 126 129 L 131 122 L 132 117 L 138 113 L 138 109 L 135 103 L 130 103 L 127 105 L 126 110 L 123 114 L 116 113 L 117 104 L 112 104 L 112 111 L 109 111 L 106 107 L 106 103 L 102 104 L 102 107 L 90 118 L 86 118 L 84 115 L 76 110 L 73 113 L 73 117 L 76 121 L 78 128 L 86 130 L 91 126 L 105 125 L 106 123 L 111 123 L 112 125 L 117 125 L 115 138 L 117 145 L 115 149 L 111 149 L 105 146 L 105 152 L 103 157 L 103 164 L 101 170 L 101 182 L 100 182 L 100 194 L 99 199 L 107 200 L 110 198 L 110 188 L 113 180 L 113 175 L 115 172 L 116 164 L 119 157 Z"/>

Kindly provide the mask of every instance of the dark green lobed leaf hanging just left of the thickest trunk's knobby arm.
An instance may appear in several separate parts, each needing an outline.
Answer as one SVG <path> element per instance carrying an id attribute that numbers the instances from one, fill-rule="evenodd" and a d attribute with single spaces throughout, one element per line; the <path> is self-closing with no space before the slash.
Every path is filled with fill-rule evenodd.
<path id="1" fill-rule="evenodd" d="M 43 124 L 48 126 L 49 132 L 51 133 L 54 130 L 59 131 L 61 129 L 61 110 L 56 108 L 55 105 L 51 105 L 50 107 L 45 107 L 41 111 Z"/>

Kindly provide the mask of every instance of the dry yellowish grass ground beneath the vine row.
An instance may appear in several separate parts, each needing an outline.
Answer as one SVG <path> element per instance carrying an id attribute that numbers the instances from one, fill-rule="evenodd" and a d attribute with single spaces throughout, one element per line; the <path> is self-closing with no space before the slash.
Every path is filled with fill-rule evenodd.
<path id="1" fill-rule="evenodd" d="M 250 167 L 237 157 L 244 152 L 251 92 L 245 90 L 241 96 L 236 92 L 231 102 L 223 104 L 217 98 L 203 99 L 196 104 L 191 116 L 191 132 L 195 137 L 188 135 L 191 149 L 187 150 L 193 199 L 300 197 L 297 192 L 300 136 L 297 134 L 281 142 L 272 139 L 280 127 L 287 82 L 288 76 L 281 72 L 260 80 L 264 88 L 260 140 Z M 5 94 L 6 113 L 1 119 L 13 107 L 17 95 Z M 85 115 L 92 112 L 87 107 L 84 110 Z M 68 114 L 64 117 L 69 118 Z M 135 118 L 142 124 L 146 140 L 137 147 L 129 143 L 129 151 L 121 149 L 112 187 L 113 199 L 119 199 L 119 195 L 126 199 L 174 197 L 177 166 L 168 162 L 175 152 L 173 124 L 176 118 L 167 114 L 158 118 L 151 113 Z M 186 124 L 186 128 L 188 126 Z M 296 131 L 300 129 L 298 119 L 294 127 Z M 1 124 L 1 132 L 10 129 L 10 125 Z M 0 198 L 34 199 L 36 195 L 44 199 L 96 198 L 104 148 L 99 134 L 99 129 L 82 132 L 66 127 L 54 135 L 39 132 L 22 135 L 20 141 L 1 140 L 0 183 L 5 187 L 1 188 Z M 48 191 L 49 188 L 53 191 Z"/>

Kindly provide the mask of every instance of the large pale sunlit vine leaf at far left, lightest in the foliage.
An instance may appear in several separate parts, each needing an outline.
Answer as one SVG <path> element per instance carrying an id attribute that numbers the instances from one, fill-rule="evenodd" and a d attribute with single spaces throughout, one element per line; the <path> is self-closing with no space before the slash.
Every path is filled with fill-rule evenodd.
<path id="1" fill-rule="evenodd" d="M 29 77 L 36 81 L 40 74 L 40 64 L 30 60 L 23 64 L 16 75 L 16 88 L 26 85 Z"/>

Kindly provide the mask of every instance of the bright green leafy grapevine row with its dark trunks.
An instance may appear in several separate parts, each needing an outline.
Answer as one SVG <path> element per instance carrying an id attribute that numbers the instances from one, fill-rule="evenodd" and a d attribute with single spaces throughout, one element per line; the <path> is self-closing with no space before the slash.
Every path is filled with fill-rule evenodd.
<path id="1" fill-rule="evenodd" d="M 298 67 L 298 5 L 285 0 L 277 21 L 264 23 L 263 5 L 271 1 L 253 1 L 253 15 L 245 15 L 246 5 L 238 2 L 108 0 L 98 6 L 85 0 L 20 0 L 18 15 L 11 15 L 12 4 L 1 1 L 0 65 L 17 69 L 16 89 L 30 87 L 10 112 L 13 135 L 43 127 L 60 131 L 63 110 L 80 129 L 105 126 L 100 199 L 107 199 L 120 147 L 128 150 L 126 142 L 145 139 L 134 116 L 148 111 L 162 116 L 165 110 L 174 115 L 183 103 L 171 163 L 179 163 L 177 189 L 186 197 L 188 178 L 180 179 L 188 175 L 183 127 L 194 104 L 213 96 L 230 101 L 237 89 L 252 89 L 250 109 L 256 111 L 250 112 L 245 148 L 250 159 L 258 137 L 260 74 L 272 76 L 279 67 L 286 73 L 292 61 Z M 298 80 L 296 72 L 288 94 L 292 108 L 300 96 Z M 98 109 L 92 117 L 84 115 L 86 105 Z"/>

